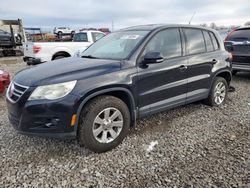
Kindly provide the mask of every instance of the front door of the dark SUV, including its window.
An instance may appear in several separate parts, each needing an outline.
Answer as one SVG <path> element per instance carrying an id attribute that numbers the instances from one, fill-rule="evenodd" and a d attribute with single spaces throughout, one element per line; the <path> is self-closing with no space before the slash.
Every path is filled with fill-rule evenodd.
<path id="1" fill-rule="evenodd" d="M 187 60 L 183 57 L 183 41 L 179 28 L 156 33 L 141 55 L 160 52 L 159 64 L 138 65 L 138 104 L 140 116 L 185 104 L 187 93 Z"/>

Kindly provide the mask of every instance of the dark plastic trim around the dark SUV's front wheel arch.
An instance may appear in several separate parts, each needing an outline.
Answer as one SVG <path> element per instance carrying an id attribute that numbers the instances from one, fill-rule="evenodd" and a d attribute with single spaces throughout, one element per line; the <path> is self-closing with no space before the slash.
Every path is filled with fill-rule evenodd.
<path id="1" fill-rule="evenodd" d="M 123 88 L 123 87 L 115 87 L 115 88 L 108 88 L 108 89 L 96 91 L 96 92 L 91 93 L 91 94 L 87 95 L 86 97 L 84 97 L 84 99 L 81 101 L 81 103 L 77 109 L 77 114 L 76 114 L 77 119 L 76 119 L 76 123 L 75 123 L 75 131 L 77 131 L 77 129 L 78 129 L 78 124 L 79 124 L 79 119 L 80 119 L 82 109 L 92 99 L 94 99 L 98 96 L 102 96 L 102 95 L 111 95 L 111 96 L 114 96 L 114 97 L 121 99 L 129 108 L 130 116 L 131 116 L 131 127 L 135 126 L 136 117 L 137 117 L 137 110 L 136 110 L 135 100 L 134 100 L 134 97 L 133 97 L 131 91 L 126 89 L 126 88 Z"/>

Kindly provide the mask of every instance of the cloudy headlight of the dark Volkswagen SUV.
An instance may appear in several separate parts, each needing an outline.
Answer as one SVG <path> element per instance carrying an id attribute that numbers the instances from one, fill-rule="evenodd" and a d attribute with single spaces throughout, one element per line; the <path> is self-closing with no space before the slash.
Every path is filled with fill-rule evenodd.
<path id="1" fill-rule="evenodd" d="M 55 100 L 68 95 L 75 87 L 76 80 L 53 85 L 38 86 L 28 100 L 48 99 Z"/>

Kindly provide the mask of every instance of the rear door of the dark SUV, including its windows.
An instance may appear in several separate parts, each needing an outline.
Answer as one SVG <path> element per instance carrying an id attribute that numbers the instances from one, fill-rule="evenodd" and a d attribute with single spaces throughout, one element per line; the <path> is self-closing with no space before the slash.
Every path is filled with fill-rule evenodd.
<path id="1" fill-rule="evenodd" d="M 206 30 L 183 28 L 183 33 L 188 59 L 187 102 L 193 102 L 207 98 L 209 95 L 211 72 L 217 62 L 218 43 L 213 33 Z"/>

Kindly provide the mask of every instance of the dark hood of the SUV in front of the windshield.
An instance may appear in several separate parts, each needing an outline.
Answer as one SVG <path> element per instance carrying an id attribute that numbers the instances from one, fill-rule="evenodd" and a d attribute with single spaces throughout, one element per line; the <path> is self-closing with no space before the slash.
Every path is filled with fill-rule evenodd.
<path id="1" fill-rule="evenodd" d="M 121 69 L 117 60 L 64 58 L 18 72 L 13 81 L 24 86 L 56 84 L 108 74 Z"/>

